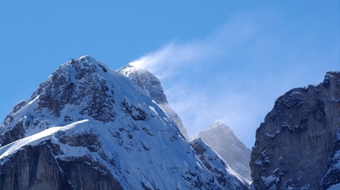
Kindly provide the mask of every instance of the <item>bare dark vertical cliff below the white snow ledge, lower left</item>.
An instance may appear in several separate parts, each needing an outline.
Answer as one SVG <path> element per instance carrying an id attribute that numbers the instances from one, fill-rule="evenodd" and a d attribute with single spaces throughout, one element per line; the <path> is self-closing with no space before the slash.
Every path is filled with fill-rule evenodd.
<path id="1" fill-rule="evenodd" d="M 44 141 L 1 160 L 0 189 L 123 189 L 106 167 L 86 157 L 56 159 L 60 151 Z"/>

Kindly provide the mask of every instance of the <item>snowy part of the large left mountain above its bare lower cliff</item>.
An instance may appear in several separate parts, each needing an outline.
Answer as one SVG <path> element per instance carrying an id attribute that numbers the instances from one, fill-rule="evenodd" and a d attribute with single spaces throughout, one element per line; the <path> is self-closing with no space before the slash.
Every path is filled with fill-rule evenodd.
<path id="1" fill-rule="evenodd" d="M 222 189 L 164 109 L 89 56 L 52 73 L 8 114 L 0 137 L 0 163 L 50 141 L 60 146 L 56 159 L 91 158 L 124 189 Z"/>

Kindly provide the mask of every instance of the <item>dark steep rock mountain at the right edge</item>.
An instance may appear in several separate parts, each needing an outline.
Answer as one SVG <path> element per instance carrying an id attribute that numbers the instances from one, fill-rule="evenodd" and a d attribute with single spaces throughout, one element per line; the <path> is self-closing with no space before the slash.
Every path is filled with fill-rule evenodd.
<path id="1" fill-rule="evenodd" d="M 256 189 L 327 189 L 340 183 L 339 71 L 327 72 L 319 85 L 278 97 L 256 130 L 250 167 Z"/>

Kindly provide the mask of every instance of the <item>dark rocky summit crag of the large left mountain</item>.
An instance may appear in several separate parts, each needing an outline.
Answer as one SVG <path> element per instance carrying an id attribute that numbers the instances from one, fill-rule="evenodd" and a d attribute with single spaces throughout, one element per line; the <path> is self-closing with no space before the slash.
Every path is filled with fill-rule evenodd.
<path id="1" fill-rule="evenodd" d="M 65 105 L 69 104 L 77 106 L 81 115 L 88 114 L 103 122 L 114 121 L 115 114 L 111 112 L 115 102 L 113 84 L 106 83 L 106 79 L 98 74 L 101 70 L 106 73 L 105 67 L 93 62 L 91 57 L 72 59 L 67 68 L 60 67 L 41 83 L 30 100 L 39 96 L 37 109 L 40 112 L 49 109 L 56 117 L 60 117 Z"/>

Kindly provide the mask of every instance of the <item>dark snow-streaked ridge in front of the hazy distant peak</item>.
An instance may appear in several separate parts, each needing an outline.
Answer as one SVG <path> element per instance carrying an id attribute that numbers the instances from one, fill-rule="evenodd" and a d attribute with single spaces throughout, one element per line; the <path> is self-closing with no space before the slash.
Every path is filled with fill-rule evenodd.
<path id="1" fill-rule="evenodd" d="M 215 180 L 224 189 L 249 189 L 249 182 L 246 179 L 239 176 L 234 176 L 234 170 L 230 169 L 227 163 L 220 158 L 210 146 L 208 146 L 201 138 L 194 138 L 190 141 L 190 145 L 195 150 L 198 158 L 202 160 L 205 167 L 211 172 Z M 240 183 L 242 181 L 243 183 Z"/>

